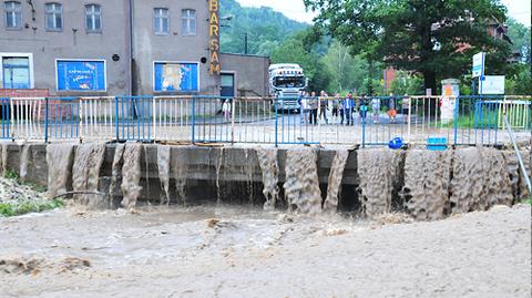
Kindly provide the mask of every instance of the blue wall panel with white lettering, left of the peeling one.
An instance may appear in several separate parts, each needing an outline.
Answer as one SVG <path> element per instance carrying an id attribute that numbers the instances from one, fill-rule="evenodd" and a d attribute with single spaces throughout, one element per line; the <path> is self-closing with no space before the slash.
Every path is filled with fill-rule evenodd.
<path id="1" fill-rule="evenodd" d="M 58 60 L 58 90 L 105 91 L 104 61 Z"/>

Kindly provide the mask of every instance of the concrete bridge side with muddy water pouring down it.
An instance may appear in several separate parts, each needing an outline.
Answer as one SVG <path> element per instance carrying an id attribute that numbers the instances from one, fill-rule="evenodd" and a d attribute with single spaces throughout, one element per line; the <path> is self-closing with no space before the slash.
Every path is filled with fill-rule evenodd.
<path id="1" fill-rule="evenodd" d="M 299 213 L 406 212 L 418 219 L 528 197 L 513 151 L 288 150 L 153 144 L 2 144 L 2 171 L 100 207 L 228 203 Z M 531 172 L 530 148 L 522 150 Z M 108 194 L 106 196 L 91 193 Z M 105 199 L 102 201 L 102 197 Z"/>

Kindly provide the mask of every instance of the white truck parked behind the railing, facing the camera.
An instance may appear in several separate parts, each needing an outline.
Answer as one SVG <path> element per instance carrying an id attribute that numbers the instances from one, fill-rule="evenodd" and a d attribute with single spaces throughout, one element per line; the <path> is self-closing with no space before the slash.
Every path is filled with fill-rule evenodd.
<path id="1" fill-rule="evenodd" d="M 298 64 L 272 64 L 269 66 L 272 109 L 299 110 L 299 99 L 307 84 L 308 81 Z"/>

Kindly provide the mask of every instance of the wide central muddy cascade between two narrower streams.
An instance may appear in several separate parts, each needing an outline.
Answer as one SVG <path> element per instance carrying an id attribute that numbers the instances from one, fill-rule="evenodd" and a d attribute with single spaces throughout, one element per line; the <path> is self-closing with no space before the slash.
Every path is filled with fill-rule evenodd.
<path id="1" fill-rule="evenodd" d="M 315 150 L 289 150 L 286 152 L 285 196 L 288 206 L 298 213 L 321 213 L 317 161 L 318 156 Z"/>

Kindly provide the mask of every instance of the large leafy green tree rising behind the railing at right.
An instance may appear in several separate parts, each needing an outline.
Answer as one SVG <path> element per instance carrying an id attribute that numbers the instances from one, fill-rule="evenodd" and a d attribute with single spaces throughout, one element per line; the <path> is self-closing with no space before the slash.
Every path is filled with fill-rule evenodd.
<path id="1" fill-rule="evenodd" d="M 505 20 L 499 0 L 304 0 L 316 22 L 354 54 L 423 75 L 424 88 L 459 76 L 471 58 L 488 53 L 487 69 L 502 72 L 509 43 L 488 34 L 489 21 Z M 466 47 L 464 47 L 466 45 Z"/>

